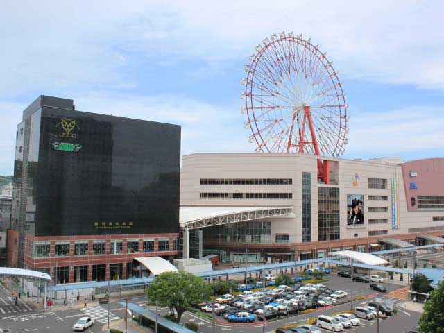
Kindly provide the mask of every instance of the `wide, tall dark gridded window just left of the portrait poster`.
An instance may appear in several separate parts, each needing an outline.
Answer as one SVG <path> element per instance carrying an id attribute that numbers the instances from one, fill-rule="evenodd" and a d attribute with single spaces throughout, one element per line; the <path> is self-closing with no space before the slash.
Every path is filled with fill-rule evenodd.
<path id="1" fill-rule="evenodd" d="M 318 187 L 318 241 L 340 237 L 339 187 Z"/>

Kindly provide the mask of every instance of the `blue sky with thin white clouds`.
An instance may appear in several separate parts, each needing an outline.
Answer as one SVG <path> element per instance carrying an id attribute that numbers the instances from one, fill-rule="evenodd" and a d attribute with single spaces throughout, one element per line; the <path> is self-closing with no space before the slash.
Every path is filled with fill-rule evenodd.
<path id="1" fill-rule="evenodd" d="M 272 33 L 319 44 L 350 105 L 345 158 L 443 157 L 443 1 L 11 1 L 0 12 L 0 174 L 38 95 L 182 125 L 182 155 L 253 152 L 244 65 Z M 216 2 L 216 1 L 212 1 Z"/>

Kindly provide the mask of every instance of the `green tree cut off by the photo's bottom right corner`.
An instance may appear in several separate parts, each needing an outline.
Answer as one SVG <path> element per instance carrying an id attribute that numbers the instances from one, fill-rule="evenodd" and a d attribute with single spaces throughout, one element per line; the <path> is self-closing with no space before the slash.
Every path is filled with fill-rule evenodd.
<path id="1" fill-rule="evenodd" d="M 424 305 L 424 312 L 418 321 L 420 333 L 444 333 L 444 316 L 442 309 L 444 309 L 443 281 L 430 293 L 430 298 Z"/>

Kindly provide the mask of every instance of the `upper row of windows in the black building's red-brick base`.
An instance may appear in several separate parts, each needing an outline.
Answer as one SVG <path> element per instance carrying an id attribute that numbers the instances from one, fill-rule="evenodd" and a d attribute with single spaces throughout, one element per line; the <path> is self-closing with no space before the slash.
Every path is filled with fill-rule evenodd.
<path id="1" fill-rule="evenodd" d="M 143 252 L 154 252 L 155 243 L 154 241 L 143 241 L 142 243 Z M 169 239 L 159 239 L 157 241 L 158 251 L 169 251 Z M 56 257 L 69 257 L 69 243 L 56 244 Z M 33 257 L 42 258 L 50 256 L 51 244 L 49 243 L 34 243 L 34 255 Z M 178 250 L 178 239 L 173 239 L 173 251 Z M 139 253 L 139 241 L 127 241 L 126 243 L 126 253 Z M 92 244 L 92 254 L 93 255 L 105 255 L 106 254 L 106 243 L 99 242 Z M 123 254 L 123 240 L 121 241 L 111 241 L 110 242 L 110 254 L 111 255 L 121 255 Z M 74 255 L 89 255 L 89 244 L 88 243 L 78 243 L 74 244 Z"/>

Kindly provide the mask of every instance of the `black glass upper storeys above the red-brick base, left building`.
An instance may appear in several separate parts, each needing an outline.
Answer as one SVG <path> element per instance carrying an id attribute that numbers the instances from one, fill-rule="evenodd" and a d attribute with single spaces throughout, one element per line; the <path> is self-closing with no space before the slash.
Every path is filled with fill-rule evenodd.
<path id="1" fill-rule="evenodd" d="M 180 126 L 40 96 L 24 110 L 16 142 L 12 228 L 20 234 L 179 231 Z"/>

